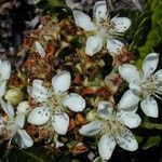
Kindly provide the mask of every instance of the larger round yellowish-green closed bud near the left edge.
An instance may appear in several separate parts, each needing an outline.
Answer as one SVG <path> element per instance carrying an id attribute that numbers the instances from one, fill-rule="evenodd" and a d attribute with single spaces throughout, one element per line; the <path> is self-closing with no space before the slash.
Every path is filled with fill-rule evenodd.
<path id="1" fill-rule="evenodd" d="M 4 98 L 12 105 L 17 105 L 23 100 L 23 92 L 19 87 L 8 90 Z"/>

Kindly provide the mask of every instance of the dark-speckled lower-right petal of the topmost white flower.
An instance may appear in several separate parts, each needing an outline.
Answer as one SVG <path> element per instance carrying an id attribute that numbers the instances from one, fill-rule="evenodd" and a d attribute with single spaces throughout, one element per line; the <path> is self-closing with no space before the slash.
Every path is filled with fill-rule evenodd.
<path id="1" fill-rule="evenodd" d="M 119 40 L 111 39 L 111 38 L 107 39 L 107 50 L 109 53 L 117 54 L 121 51 L 123 46 L 124 44 Z"/>

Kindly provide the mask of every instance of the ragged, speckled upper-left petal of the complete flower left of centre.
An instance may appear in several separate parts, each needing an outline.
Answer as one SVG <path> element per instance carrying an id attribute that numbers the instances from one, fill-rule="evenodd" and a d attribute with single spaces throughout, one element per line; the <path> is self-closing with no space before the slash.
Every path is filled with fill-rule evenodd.
<path id="1" fill-rule="evenodd" d="M 46 102 L 49 97 L 48 89 L 42 85 L 42 80 L 33 80 L 32 87 L 28 87 L 28 94 L 35 98 L 37 102 Z"/>

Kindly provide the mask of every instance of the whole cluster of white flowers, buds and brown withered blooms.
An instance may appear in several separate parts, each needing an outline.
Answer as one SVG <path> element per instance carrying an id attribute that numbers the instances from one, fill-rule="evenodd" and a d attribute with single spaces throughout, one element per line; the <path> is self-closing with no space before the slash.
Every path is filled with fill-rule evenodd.
<path id="1" fill-rule="evenodd" d="M 117 144 L 135 151 L 138 143 L 130 129 L 143 122 L 138 107 L 148 117 L 159 116 L 154 97 L 162 94 L 162 70 L 154 70 L 160 54 L 148 54 L 137 69 L 119 40 L 131 19 L 110 18 L 106 1 L 95 3 L 93 18 L 76 9 L 72 14 L 41 18 L 24 39 L 29 55 L 18 72 L 0 59 L 0 137 L 21 148 L 44 143 L 75 154 L 91 149 L 84 144 L 89 136 L 96 138 L 103 161 L 111 158 Z M 122 60 L 117 63 L 116 55 Z M 107 63 L 108 56 L 113 60 Z M 104 77 L 110 63 L 114 66 Z"/>

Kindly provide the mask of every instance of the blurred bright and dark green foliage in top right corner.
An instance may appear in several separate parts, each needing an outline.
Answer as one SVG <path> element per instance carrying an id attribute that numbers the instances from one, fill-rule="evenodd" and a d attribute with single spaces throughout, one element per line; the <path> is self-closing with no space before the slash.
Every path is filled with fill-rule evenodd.
<path id="1" fill-rule="evenodd" d="M 144 11 L 135 15 L 133 21 L 133 41 L 131 50 L 138 50 L 139 57 L 136 65 L 141 66 L 141 60 L 154 49 L 162 44 L 162 1 L 148 0 Z M 135 31 L 135 32 L 133 32 Z"/>

